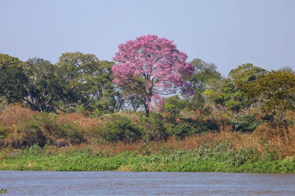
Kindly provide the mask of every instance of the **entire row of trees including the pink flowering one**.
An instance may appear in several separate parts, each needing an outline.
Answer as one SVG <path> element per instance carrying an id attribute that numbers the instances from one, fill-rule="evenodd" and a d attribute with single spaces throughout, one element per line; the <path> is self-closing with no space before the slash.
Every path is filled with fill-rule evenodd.
<path id="1" fill-rule="evenodd" d="M 288 66 L 266 71 L 245 63 L 224 77 L 214 63 L 186 62 L 187 55 L 166 38 L 140 36 L 118 48 L 115 62 L 78 51 L 61 54 L 55 64 L 0 54 L 0 116 L 12 103 L 91 117 L 124 110 L 149 117 L 152 111 L 173 128 L 184 122 L 179 131 L 191 133 L 191 124 L 206 119 L 206 126 L 217 130 L 222 118 L 229 118 L 236 131 L 254 130 L 266 119 L 288 127 L 295 110 L 295 72 Z"/>

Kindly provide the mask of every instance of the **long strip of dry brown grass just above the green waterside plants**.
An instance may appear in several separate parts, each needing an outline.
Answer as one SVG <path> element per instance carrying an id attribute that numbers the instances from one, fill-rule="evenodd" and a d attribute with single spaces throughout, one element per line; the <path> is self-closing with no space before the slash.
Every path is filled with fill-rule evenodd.
<path id="1" fill-rule="evenodd" d="M 221 139 L 230 140 L 233 142 L 233 146 L 237 149 L 240 148 L 252 148 L 257 149 L 258 152 L 263 156 L 267 152 L 265 147 L 269 145 L 271 151 L 281 151 L 282 158 L 287 156 L 295 155 L 295 127 L 290 128 L 287 135 L 277 134 L 277 130 L 271 129 L 269 125 L 262 125 L 251 133 L 234 133 L 227 130 L 221 131 L 220 133 L 206 133 L 197 134 L 185 138 L 184 140 L 177 140 L 175 138 L 169 138 L 166 141 L 150 142 L 145 143 L 144 141 L 137 141 L 133 143 L 125 143 L 119 141 L 117 143 L 105 143 L 105 144 L 80 144 L 80 145 L 69 145 L 67 147 L 55 148 L 50 147 L 53 152 L 59 150 L 71 150 L 72 148 L 86 149 L 88 146 L 95 152 L 109 151 L 113 154 L 118 154 L 124 151 L 134 151 L 138 154 L 153 154 L 160 153 L 161 151 L 170 151 L 173 149 L 196 149 L 200 146 L 202 141 L 209 145 L 213 144 L 214 140 Z M 266 139 L 268 138 L 268 140 Z"/>

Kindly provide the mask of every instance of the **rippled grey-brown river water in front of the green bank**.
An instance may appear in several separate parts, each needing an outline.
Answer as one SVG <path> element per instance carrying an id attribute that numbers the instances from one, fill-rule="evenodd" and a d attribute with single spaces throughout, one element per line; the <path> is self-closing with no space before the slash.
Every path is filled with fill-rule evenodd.
<path id="1" fill-rule="evenodd" d="M 295 195 L 295 174 L 0 170 L 6 195 Z"/>

